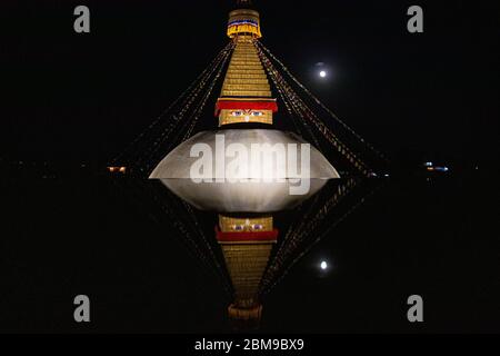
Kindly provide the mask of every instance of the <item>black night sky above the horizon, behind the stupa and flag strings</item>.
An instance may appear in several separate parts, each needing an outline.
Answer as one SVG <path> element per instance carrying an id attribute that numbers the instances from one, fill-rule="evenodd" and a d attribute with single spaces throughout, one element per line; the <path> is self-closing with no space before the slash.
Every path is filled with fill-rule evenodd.
<path id="1" fill-rule="evenodd" d="M 492 166 L 498 2 L 419 1 L 424 32 L 411 34 L 413 2 L 256 1 L 263 43 L 394 162 Z M 80 3 L 91 10 L 89 34 L 73 31 Z M 2 2 L 3 156 L 108 161 L 227 43 L 231 6 Z M 331 68 L 328 80 L 317 77 L 317 62 Z"/>

